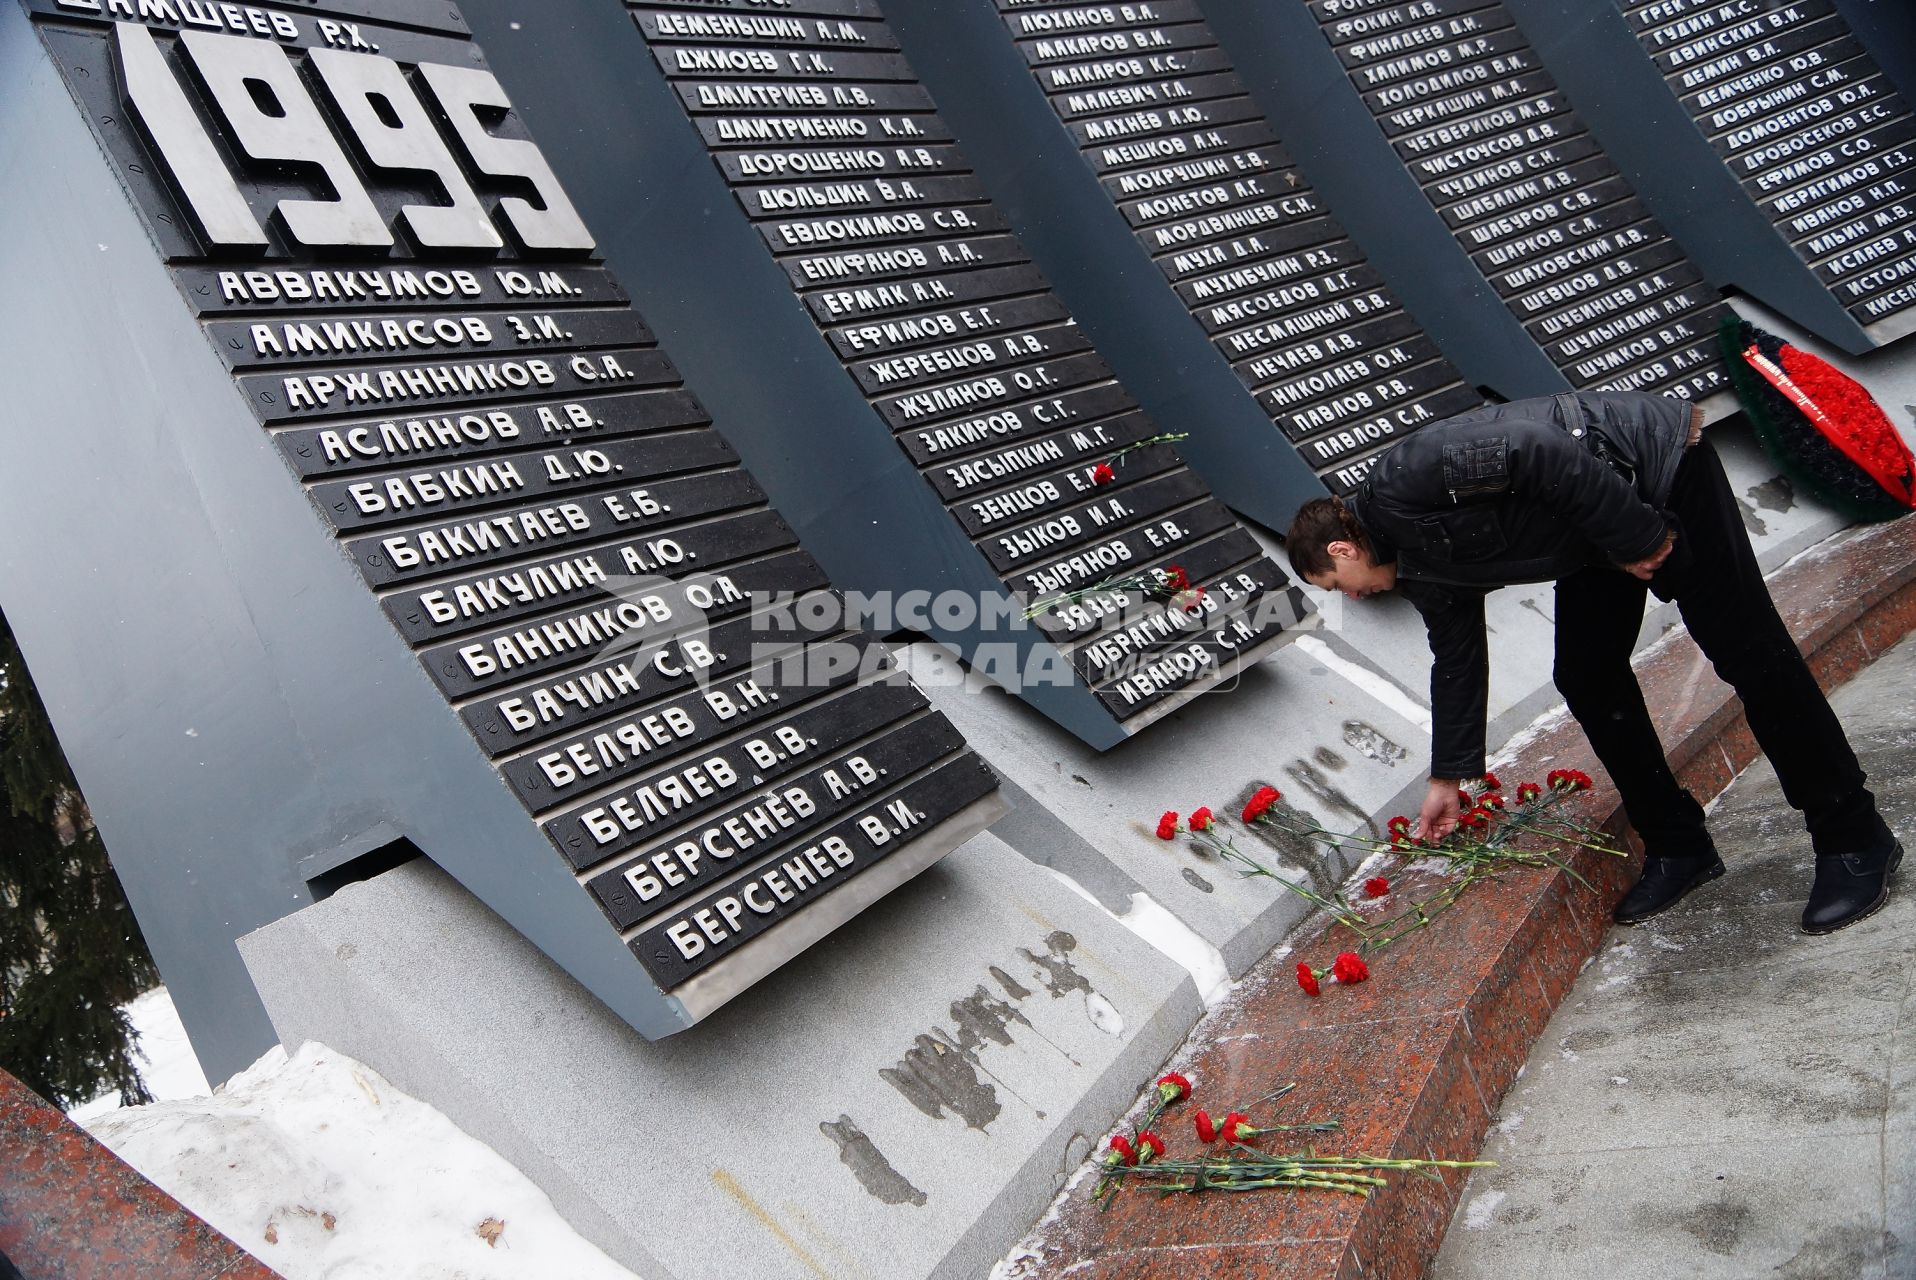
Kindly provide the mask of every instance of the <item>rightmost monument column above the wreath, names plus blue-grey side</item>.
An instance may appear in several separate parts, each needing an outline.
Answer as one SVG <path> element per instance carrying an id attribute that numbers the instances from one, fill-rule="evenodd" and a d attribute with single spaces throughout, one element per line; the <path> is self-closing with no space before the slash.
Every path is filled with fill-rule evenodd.
<path id="1" fill-rule="evenodd" d="M 1908 6 L 1510 8 L 1713 282 L 1851 354 L 1916 331 Z"/>

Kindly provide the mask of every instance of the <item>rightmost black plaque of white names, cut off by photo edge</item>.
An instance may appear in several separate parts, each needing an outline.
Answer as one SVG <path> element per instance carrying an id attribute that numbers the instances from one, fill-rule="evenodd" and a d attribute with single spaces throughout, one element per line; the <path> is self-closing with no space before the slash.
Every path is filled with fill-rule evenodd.
<path id="1" fill-rule="evenodd" d="M 1830 0 L 1623 0 L 1738 186 L 1880 341 L 1916 312 L 1916 115 Z"/>

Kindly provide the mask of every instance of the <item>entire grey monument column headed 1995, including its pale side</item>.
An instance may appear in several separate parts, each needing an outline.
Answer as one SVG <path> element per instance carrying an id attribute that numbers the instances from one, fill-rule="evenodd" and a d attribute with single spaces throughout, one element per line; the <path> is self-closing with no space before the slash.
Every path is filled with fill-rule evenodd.
<path id="1" fill-rule="evenodd" d="M 211 1079 L 410 855 L 663 1037 L 1002 812 L 452 6 L 0 10 L 0 590 Z"/>

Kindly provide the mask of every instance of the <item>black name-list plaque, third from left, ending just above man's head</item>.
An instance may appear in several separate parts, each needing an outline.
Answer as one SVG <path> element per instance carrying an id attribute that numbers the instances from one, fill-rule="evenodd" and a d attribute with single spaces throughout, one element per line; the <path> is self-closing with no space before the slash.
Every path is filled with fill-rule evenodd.
<path id="1" fill-rule="evenodd" d="M 996 4 L 1138 243 L 1253 393 L 1420 337 L 1245 96 L 1196 6 Z M 1385 84 L 1391 75 L 1380 69 L 1374 79 Z M 1092 82 L 1111 88 L 1092 94 L 1084 88 Z M 1416 88 L 1380 92 L 1408 98 Z M 1201 117 L 1194 100 L 1205 100 Z M 1448 414 L 1479 402 L 1435 351 L 1424 374 L 1412 397 L 1391 404 L 1404 416 L 1391 420 L 1387 435 L 1443 416 L 1431 404 Z M 1259 397 L 1259 404 L 1272 416 L 1284 412 L 1280 399 Z M 1366 408 L 1380 404 L 1347 402 L 1339 423 L 1351 425 L 1347 410 Z M 1341 437 L 1357 441 L 1387 443 L 1364 429 Z M 1339 464 L 1351 452 L 1303 450 L 1303 458 L 1343 492 Z"/>

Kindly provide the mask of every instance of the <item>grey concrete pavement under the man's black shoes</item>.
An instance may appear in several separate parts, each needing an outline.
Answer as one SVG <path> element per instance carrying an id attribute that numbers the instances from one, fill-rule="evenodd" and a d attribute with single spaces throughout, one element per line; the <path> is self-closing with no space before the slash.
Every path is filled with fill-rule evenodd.
<path id="1" fill-rule="evenodd" d="M 1809 837 L 1753 765 L 1711 814 L 1730 874 L 1609 933 L 1433 1280 L 1916 1278 L 1916 636 L 1832 701 L 1912 851 L 1889 906 L 1797 929 Z"/>

